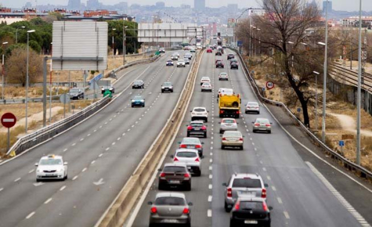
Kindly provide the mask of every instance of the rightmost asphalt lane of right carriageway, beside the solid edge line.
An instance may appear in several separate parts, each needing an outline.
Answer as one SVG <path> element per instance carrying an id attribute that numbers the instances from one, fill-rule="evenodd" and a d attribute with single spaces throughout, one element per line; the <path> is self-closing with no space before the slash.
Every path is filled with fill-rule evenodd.
<path id="1" fill-rule="evenodd" d="M 242 94 L 242 97 L 251 97 L 251 100 L 255 100 L 252 91 L 245 89 L 248 82 L 243 72 L 239 71 L 234 75 L 237 77 L 236 91 Z M 261 108 L 260 112 L 262 113 L 260 117 L 263 115 L 262 117 L 273 121 L 266 109 Z M 249 119 L 251 115 L 246 115 L 246 118 L 247 116 Z M 277 200 L 274 201 L 281 201 L 285 204 L 283 207 L 280 206 L 283 209 L 279 211 L 283 212 L 286 219 L 291 219 L 291 226 L 298 226 L 300 223 L 307 223 L 311 226 L 321 226 L 324 223 L 326 226 L 358 225 L 355 218 L 309 170 L 283 130 L 277 127 L 273 128 L 272 134 L 252 133 L 251 138 L 252 145 L 258 151 L 262 170 L 268 172 L 264 173 L 263 177 L 275 185 L 277 192 L 274 194 L 277 195 Z M 296 186 L 293 187 L 293 185 Z M 298 192 L 306 196 L 300 196 Z M 287 202 L 284 203 L 284 201 Z M 293 218 L 288 218 L 292 216 Z"/>

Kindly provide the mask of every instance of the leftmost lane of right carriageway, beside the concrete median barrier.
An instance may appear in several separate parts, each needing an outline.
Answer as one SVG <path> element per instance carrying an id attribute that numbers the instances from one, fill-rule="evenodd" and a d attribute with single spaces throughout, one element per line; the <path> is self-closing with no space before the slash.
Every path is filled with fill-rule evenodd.
<path id="1" fill-rule="evenodd" d="M 205 55 L 204 55 L 205 56 Z M 200 91 L 200 78 L 201 76 L 210 75 L 212 69 L 210 67 L 210 61 L 212 59 L 210 57 L 205 57 L 202 59 L 199 68 L 199 74 L 196 79 L 196 84 L 194 88 L 194 93 L 192 100 L 189 104 L 189 110 L 191 110 L 195 106 L 204 106 L 209 109 L 209 117 L 207 123 L 207 138 L 200 138 L 203 144 L 203 155 L 204 158 L 201 161 L 201 176 L 200 177 L 192 177 L 191 183 L 191 191 L 182 191 L 186 195 L 186 199 L 190 202 L 193 202 L 193 206 L 191 207 L 191 224 L 193 227 L 200 227 L 200 226 L 210 226 L 211 220 L 208 215 L 208 209 L 210 205 L 208 204 L 208 195 L 210 195 L 210 190 L 208 185 L 211 179 L 209 178 L 209 166 L 211 165 L 211 137 L 214 136 L 213 130 L 211 130 L 211 125 L 213 124 L 214 120 L 212 119 L 212 103 L 213 103 L 213 95 L 211 93 L 202 93 Z M 211 77 L 212 78 L 212 77 Z M 174 143 L 171 146 L 170 151 L 167 154 L 167 157 L 164 163 L 173 162 L 172 158 L 170 157 L 171 154 L 174 154 L 175 150 L 179 148 L 178 142 L 180 142 L 184 137 L 187 135 L 186 125 L 190 124 L 191 121 L 191 114 L 189 112 L 186 113 L 184 120 L 181 123 L 180 130 L 174 140 Z M 213 134 L 212 134 L 213 133 Z M 150 207 L 147 205 L 148 201 L 153 201 L 158 191 L 158 176 L 154 180 L 153 185 L 149 193 L 147 194 L 145 201 L 143 202 L 139 213 L 136 216 L 136 220 L 133 224 L 133 227 L 144 227 L 148 226 L 149 220 L 149 209 Z M 205 225 L 200 225 L 200 223 L 204 223 Z"/>

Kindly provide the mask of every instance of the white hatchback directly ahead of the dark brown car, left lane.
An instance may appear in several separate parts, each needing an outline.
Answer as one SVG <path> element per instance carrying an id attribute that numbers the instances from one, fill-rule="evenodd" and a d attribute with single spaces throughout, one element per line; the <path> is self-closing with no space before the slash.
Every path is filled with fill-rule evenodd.
<path id="1" fill-rule="evenodd" d="M 199 156 L 199 152 L 196 149 L 177 149 L 175 151 L 174 156 L 171 155 L 173 158 L 173 162 L 184 163 L 187 166 L 187 170 L 197 176 L 200 177 L 201 175 L 201 157 Z"/>

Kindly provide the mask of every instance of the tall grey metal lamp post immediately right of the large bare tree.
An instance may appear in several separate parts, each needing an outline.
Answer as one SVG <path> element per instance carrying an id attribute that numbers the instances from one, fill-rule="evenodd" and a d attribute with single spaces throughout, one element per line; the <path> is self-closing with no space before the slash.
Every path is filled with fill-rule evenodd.
<path id="1" fill-rule="evenodd" d="M 327 0 L 326 13 L 325 13 L 325 50 L 324 50 L 324 73 L 323 73 L 323 116 L 322 116 L 322 126 L 321 126 L 321 137 L 322 142 L 325 143 L 325 101 L 327 93 L 327 58 L 328 58 L 328 4 Z"/>

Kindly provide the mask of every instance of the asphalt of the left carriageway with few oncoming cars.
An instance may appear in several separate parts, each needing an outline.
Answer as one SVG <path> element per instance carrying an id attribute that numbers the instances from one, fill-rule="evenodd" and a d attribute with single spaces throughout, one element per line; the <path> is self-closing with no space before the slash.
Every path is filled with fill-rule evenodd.
<path id="1" fill-rule="evenodd" d="M 183 56 L 183 51 L 178 51 Z M 82 124 L 0 165 L 1 227 L 92 227 L 113 202 L 170 116 L 190 66 L 166 67 L 171 51 L 157 62 L 121 71 L 115 100 Z M 143 79 L 145 89 L 132 90 Z M 174 93 L 161 93 L 172 81 Z M 145 108 L 131 108 L 140 94 Z M 66 181 L 36 183 L 34 163 L 63 155 Z"/>

